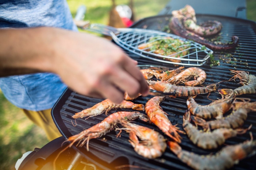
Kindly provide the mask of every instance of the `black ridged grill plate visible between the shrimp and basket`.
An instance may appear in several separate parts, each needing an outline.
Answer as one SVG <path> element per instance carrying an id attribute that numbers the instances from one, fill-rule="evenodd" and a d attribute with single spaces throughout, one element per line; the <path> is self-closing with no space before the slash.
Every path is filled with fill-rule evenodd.
<path id="1" fill-rule="evenodd" d="M 132 27 L 136 28 L 147 28 L 147 29 L 154 29 L 154 30 L 163 30 L 165 26 L 168 25 L 169 19 L 171 16 L 156 16 L 150 17 L 140 20 L 139 22 L 135 23 Z M 230 75 L 229 69 L 233 70 L 244 70 L 249 71 L 250 74 L 256 74 L 256 24 L 252 21 L 237 19 L 237 18 L 229 18 L 229 17 L 222 17 L 222 16 L 213 16 L 213 15 L 197 15 L 198 22 L 203 22 L 207 20 L 218 20 L 223 24 L 222 33 L 222 42 L 230 41 L 233 35 L 239 37 L 239 45 L 240 47 L 236 48 L 235 51 L 228 52 L 227 54 L 232 54 L 234 58 L 231 59 L 231 63 L 220 61 L 220 66 L 212 66 L 210 67 L 209 64 L 204 65 L 200 68 L 205 70 L 207 74 L 207 79 L 204 82 L 204 85 L 218 83 L 220 81 L 227 81 L 229 80 L 232 75 Z M 174 69 L 172 65 L 168 65 L 166 63 L 158 63 L 156 61 L 151 61 L 136 55 L 133 55 L 127 52 L 132 58 L 136 59 L 139 64 L 157 64 L 170 67 Z M 226 52 L 225 52 L 226 53 Z M 219 59 L 221 54 L 220 52 L 214 52 L 215 58 Z M 248 63 L 248 65 L 246 64 Z M 235 68 L 234 68 L 235 67 Z M 229 81 L 229 82 L 221 82 L 221 88 L 231 88 L 235 89 L 241 85 L 237 84 L 239 80 L 236 82 Z M 196 97 L 196 102 L 201 105 L 207 105 L 211 103 L 212 100 L 216 100 L 217 98 L 220 99 L 221 96 L 218 93 L 212 92 L 207 99 L 208 94 L 198 95 Z M 137 104 L 146 104 L 148 99 L 153 96 L 148 97 L 139 97 L 132 102 Z M 255 100 L 255 94 L 251 95 L 242 95 L 239 97 L 250 98 L 251 101 Z M 70 137 L 81 132 L 84 129 L 88 129 L 93 125 L 101 122 L 107 116 L 105 114 L 99 115 L 96 117 L 91 117 L 89 119 L 76 119 L 76 126 L 73 126 L 72 122 L 74 123 L 74 119 L 72 119 L 72 115 L 77 112 L 80 112 L 83 109 L 92 107 L 93 105 L 101 102 L 103 99 L 93 99 L 90 97 L 82 96 L 67 89 L 60 99 L 57 101 L 55 106 L 52 109 L 52 116 L 53 119 L 58 126 L 60 132 L 64 137 Z M 178 124 L 178 127 L 182 129 L 182 115 L 184 115 L 185 110 L 187 109 L 186 105 L 187 98 L 185 97 L 177 97 L 173 99 L 165 99 L 161 103 L 161 107 L 164 109 L 165 112 L 169 114 L 169 119 L 172 124 Z M 112 114 L 117 111 L 132 111 L 132 109 L 117 109 L 111 110 L 108 114 Z M 155 125 L 144 123 L 140 120 L 136 121 L 137 124 L 147 126 L 149 128 L 155 129 L 162 133 Z M 247 121 L 244 123 L 244 128 L 248 128 L 252 124 L 251 132 L 254 138 L 256 138 L 256 115 L 255 112 L 249 113 Z M 114 169 L 115 166 L 119 165 L 135 165 L 140 167 L 148 167 L 153 169 L 159 170 L 167 170 L 167 169 L 182 169 L 188 170 L 191 169 L 186 164 L 182 163 L 176 155 L 174 155 L 170 149 L 167 147 L 166 151 L 164 152 L 163 156 L 157 159 L 149 160 L 143 158 L 142 156 L 138 155 L 134 152 L 131 144 L 128 142 L 129 134 L 125 131 L 122 131 L 121 137 L 116 138 L 116 134 L 118 131 L 112 131 L 107 135 L 100 137 L 98 139 L 92 139 L 89 142 L 89 149 L 90 155 L 94 155 L 94 161 L 106 164 L 105 169 Z M 163 133 L 162 133 L 163 134 Z M 168 137 L 165 136 L 167 139 Z M 206 151 L 201 148 L 196 147 L 186 135 L 181 134 L 182 143 L 180 144 L 182 149 L 195 152 L 197 154 L 210 154 L 215 153 L 220 148 L 216 150 Z M 227 145 L 233 145 L 241 143 L 245 140 L 250 139 L 249 132 L 244 135 L 239 135 L 237 137 L 230 138 L 226 141 Z M 222 146 L 223 147 L 223 146 Z M 88 155 L 89 153 L 86 152 L 85 147 L 76 148 L 77 150 L 81 151 L 82 154 Z M 240 161 L 239 164 L 235 165 L 232 169 L 242 170 L 242 169 L 256 169 L 255 163 L 256 156 L 251 158 L 246 158 Z M 216 162 L 218 163 L 218 162 Z M 127 169 L 127 168 L 123 168 Z M 129 168 L 128 168 L 129 169 Z M 130 168 L 136 169 L 136 168 Z"/>

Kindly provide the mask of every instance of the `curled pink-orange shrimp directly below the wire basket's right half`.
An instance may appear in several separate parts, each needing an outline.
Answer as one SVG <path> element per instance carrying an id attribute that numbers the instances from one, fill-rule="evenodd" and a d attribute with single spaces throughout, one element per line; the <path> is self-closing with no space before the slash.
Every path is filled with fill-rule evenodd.
<path id="1" fill-rule="evenodd" d="M 195 80 L 187 81 L 192 77 L 194 77 Z M 204 70 L 198 67 L 189 67 L 169 80 L 166 80 L 166 82 L 171 84 L 184 83 L 186 86 L 196 86 L 204 83 L 205 79 L 206 73 Z"/>

